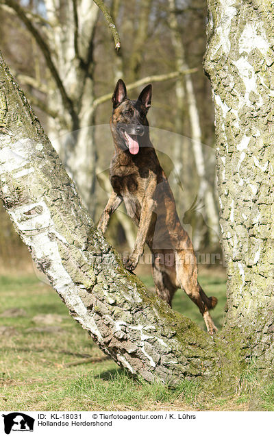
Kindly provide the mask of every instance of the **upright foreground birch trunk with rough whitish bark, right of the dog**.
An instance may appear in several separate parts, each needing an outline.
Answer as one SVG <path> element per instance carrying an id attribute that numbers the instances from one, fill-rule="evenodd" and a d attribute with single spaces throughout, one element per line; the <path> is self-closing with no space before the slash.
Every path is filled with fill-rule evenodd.
<path id="1" fill-rule="evenodd" d="M 227 326 L 251 356 L 274 358 L 274 63 L 271 1 L 208 0 L 205 67 L 216 107 L 216 157 Z"/>

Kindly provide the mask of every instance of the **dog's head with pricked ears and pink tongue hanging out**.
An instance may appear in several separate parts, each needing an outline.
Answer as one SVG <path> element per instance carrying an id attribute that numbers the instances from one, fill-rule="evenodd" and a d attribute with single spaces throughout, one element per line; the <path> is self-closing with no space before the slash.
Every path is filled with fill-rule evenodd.
<path id="1" fill-rule="evenodd" d="M 116 145 L 131 154 L 138 154 L 149 134 L 147 111 L 151 106 L 151 85 L 147 85 L 137 100 L 127 98 L 127 88 L 119 79 L 112 95 L 113 112 L 110 128 Z"/>

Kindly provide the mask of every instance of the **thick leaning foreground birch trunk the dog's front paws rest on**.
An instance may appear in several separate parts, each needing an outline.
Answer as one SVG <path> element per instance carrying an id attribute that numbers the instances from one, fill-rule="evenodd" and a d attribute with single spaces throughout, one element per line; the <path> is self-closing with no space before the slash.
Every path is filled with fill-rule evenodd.
<path id="1" fill-rule="evenodd" d="M 97 231 L 1 54 L 0 90 L 0 195 L 71 315 L 145 380 L 217 377 L 212 338 L 125 271 Z"/>

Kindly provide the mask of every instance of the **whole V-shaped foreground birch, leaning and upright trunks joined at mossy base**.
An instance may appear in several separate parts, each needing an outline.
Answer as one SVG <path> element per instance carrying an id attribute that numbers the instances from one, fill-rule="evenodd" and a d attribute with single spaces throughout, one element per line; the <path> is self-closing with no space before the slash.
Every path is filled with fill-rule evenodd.
<path id="1" fill-rule="evenodd" d="M 229 276 L 226 324 L 215 339 L 123 269 L 1 56 L 0 180 L 14 227 L 101 350 L 145 380 L 200 377 L 224 391 L 250 357 L 273 367 L 274 16 L 254 1 L 214 1 L 210 12 L 206 69 Z"/>

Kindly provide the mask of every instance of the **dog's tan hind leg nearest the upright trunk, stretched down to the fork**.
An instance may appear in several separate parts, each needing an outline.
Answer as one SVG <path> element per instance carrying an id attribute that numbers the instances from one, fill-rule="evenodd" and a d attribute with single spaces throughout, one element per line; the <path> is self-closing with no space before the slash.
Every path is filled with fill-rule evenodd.
<path id="1" fill-rule="evenodd" d="M 176 252 L 176 276 L 179 286 L 184 289 L 188 297 L 197 304 L 199 311 L 203 316 L 206 328 L 210 335 L 213 335 L 218 329 L 214 325 L 212 317 L 210 316 L 210 309 L 214 308 L 217 304 L 215 297 L 210 297 L 203 292 L 197 280 L 197 263 L 195 255 L 190 252 L 190 256 L 186 258 L 184 250 Z"/>

